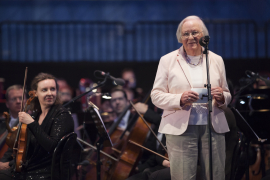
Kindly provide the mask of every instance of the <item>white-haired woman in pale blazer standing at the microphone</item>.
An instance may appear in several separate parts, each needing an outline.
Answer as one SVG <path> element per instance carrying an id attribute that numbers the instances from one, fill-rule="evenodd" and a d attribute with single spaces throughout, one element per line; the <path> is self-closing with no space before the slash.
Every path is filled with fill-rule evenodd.
<path id="1" fill-rule="evenodd" d="M 154 87 L 153 103 L 164 109 L 159 132 L 166 135 L 172 180 L 195 180 L 198 158 L 202 179 L 209 179 L 207 103 L 197 103 L 207 83 L 206 57 L 199 44 L 208 35 L 203 21 L 188 16 L 179 24 L 176 36 L 183 44 L 161 57 Z M 213 179 L 225 179 L 225 138 L 229 131 L 223 112 L 231 100 L 223 59 L 209 51 L 212 103 Z"/>

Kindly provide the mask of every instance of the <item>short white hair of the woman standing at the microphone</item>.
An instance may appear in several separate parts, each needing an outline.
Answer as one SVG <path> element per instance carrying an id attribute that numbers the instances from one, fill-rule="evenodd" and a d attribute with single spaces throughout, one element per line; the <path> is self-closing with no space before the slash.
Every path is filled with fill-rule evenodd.
<path id="1" fill-rule="evenodd" d="M 199 22 L 201 23 L 201 28 L 202 28 L 202 31 L 203 31 L 203 35 L 204 36 L 207 36 L 209 35 L 208 33 L 208 30 L 205 26 L 205 24 L 203 23 L 202 19 L 198 16 L 188 16 L 186 17 L 185 19 L 183 19 L 180 24 L 178 25 L 178 28 L 177 28 L 177 31 L 176 31 L 176 37 L 177 37 L 177 40 L 178 42 L 182 43 L 182 27 L 183 27 L 183 24 L 184 22 L 186 21 L 189 21 L 189 20 L 199 20 Z"/>

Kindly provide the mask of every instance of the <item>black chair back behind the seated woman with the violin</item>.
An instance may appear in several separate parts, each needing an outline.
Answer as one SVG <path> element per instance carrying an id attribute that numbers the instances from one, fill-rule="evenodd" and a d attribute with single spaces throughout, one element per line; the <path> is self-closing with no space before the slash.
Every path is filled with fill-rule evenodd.
<path id="1" fill-rule="evenodd" d="M 69 180 L 71 177 L 71 157 L 77 134 L 72 132 L 58 142 L 52 158 L 51 179 Z"/>

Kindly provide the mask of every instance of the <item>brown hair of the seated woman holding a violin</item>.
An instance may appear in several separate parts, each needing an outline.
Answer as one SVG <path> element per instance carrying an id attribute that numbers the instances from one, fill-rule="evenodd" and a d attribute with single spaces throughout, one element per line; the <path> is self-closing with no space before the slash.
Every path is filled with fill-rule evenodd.
<path id="1" fill-rule="evenodd" d="M 46 79 L 53 79 L 55 81 L 57 92 L 56 92 L 56 100 L 54 102 L 54 105 L 61 104 L 60 97 L 58 95 L 58 84 L 57 84 L 56 78 L 53 75 L 51 75 L 51 74 L 48 74 L 48 73 L 39 73 L 32 80 L 31 90 L 32 91 L 37 91 L 38 83 L 40 81 L 43 81 L 43 80 L 46 80 Z M 30 110 L 32 110 L 32 111 L 38 111 L 38 112 L 41 111 L 40 102 L 39 102 L 39 100 L 38 100 L 37 97 L 35 97 L 34 100 L 31 102 Z"/>

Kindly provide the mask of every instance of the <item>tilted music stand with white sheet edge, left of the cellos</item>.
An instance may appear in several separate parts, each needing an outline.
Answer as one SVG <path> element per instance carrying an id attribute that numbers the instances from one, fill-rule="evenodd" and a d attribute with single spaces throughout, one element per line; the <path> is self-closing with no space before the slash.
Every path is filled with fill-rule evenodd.
<path id="1" fill-rule="evenodd" d="M 112 141 L 110 136 L 107 133 L 103 120 L 95 107 L 89 107 L 88 111 L 91 113 L 91 120 L 94 122 L 94 125 L 97 129 L 97 134 L 99 136 L 99 140 L 96 143 L 97 147 L 97 180 L 100 180 L 100 170 L 101 170 L 101 162 L 100 162 L 100 150 L 101 147 L 112 147 Z"/>

